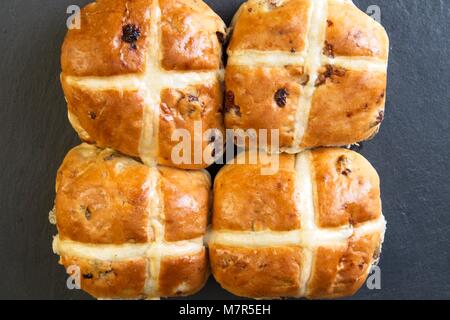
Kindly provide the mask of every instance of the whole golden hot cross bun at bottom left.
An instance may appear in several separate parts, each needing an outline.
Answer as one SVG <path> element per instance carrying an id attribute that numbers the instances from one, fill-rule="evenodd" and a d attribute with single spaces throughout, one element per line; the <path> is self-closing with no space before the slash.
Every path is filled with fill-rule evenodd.
<path id="1" fill-rule="evenodd" d="M 58 171 L 53 249 L 97 298 L 184 296 L 208 277 L 206 171 L 147 167 L 88 144 Z"/>

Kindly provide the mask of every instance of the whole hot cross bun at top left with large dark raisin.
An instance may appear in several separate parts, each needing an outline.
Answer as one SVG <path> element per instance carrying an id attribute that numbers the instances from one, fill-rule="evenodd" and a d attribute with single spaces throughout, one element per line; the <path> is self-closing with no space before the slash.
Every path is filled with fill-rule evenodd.
<path id="1" fill-rule="evenodd" d="M 193 139 L 195 123 L 222 130 L 220 17 L 201 0 L 98 0 L 80 20 L 62 47 L 61 81 L 82 140 L 147 164 L 207 167 L 174 163 L 171 136 Z"/>

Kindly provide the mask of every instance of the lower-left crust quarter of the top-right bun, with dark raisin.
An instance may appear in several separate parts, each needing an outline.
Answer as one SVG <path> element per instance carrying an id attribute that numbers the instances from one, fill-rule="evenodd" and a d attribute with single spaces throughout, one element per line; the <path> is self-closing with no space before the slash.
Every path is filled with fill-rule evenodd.
<path id="1" fill-rule="evenodd" d="M 225 126 L 279 129 L 280 147 L 294 141 L 295 113 L 302 94 L 303 68 L 228 65 L 225 74 Z"/>

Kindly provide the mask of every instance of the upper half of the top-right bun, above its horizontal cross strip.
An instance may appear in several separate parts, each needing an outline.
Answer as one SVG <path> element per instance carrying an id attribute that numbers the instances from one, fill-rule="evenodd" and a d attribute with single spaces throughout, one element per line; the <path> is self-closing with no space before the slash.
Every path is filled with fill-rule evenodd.
<path id="1" fill-rule="evenodd" d="M 313 43 L 319 37 L 328 46 Z M 329 57 L 387 59 L 389 51 L 384 28 L 351 0 L 249 0 L 234 17 L 228 53 L 302 54 L 311 45 L 319 45 Z"/>

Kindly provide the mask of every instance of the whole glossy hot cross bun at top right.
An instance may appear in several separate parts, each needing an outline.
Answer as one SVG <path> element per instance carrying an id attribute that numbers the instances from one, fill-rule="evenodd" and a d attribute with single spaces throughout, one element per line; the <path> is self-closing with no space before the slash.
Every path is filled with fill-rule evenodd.
<path id="1" fill-rule="evenodd" d="M 225 126 L 278 129 L 281 151 L 373 137 L 389 39 L 349 0 L 249 0 L 233 21 Z"/>

